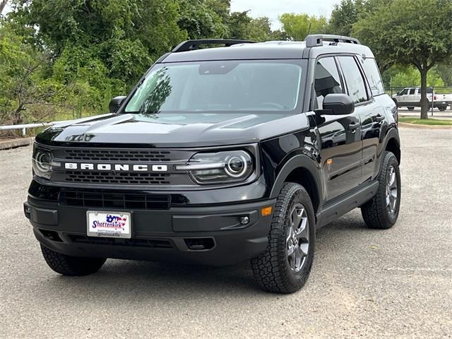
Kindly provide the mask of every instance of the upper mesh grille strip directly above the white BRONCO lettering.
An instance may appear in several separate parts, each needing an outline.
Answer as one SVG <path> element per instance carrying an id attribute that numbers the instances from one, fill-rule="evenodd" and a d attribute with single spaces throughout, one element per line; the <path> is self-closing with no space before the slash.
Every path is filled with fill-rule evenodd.
<path id="1" fill-rule="evenodd" d="M 86 161 L 171 161 L 169 150 L 102 150 L 74 148 L 64 150 L 64 158 L 67 160 Z"/>

